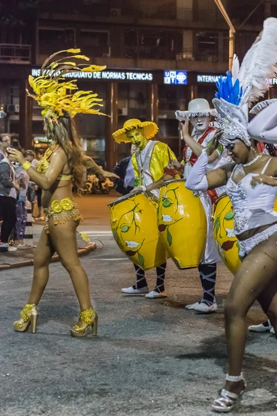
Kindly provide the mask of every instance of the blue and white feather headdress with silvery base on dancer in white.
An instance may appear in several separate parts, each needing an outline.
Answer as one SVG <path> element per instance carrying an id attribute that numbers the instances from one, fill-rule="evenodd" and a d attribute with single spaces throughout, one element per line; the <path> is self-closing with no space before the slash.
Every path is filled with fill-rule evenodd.
<path id="1" fill-rule="evenodd" d="M 264 28 L 253 43 L 240 66 L 234 55 L 232 72 L 217 81 L 217 93 L 213 105 L 219 116 L 217 122 L 224 130 L 220 139 L 226 145 L 235 139 L 241 139 L 251 145 L 247 133 L 248 112 L 252 103 L 265 95 L 269 89 L 268 78 L 277 73 L 277 19 L 269 17 Z M 251 112 L 260 111 L 258 103 Z"/>

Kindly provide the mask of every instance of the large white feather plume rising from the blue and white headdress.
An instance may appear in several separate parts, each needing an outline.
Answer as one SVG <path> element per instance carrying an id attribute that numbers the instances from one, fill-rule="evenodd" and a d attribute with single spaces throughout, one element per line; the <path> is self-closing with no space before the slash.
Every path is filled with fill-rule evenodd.
<path id="1" fill-rule="evenodd" d="M 263 96 L 270 87 L 267 78 L 274 78 L 276 73 L 277 19 L 269 17 L 264 22 L 262 33 L 245 55 L 238 73 L 243 89 L 240 105 L 251 105 Z"/>

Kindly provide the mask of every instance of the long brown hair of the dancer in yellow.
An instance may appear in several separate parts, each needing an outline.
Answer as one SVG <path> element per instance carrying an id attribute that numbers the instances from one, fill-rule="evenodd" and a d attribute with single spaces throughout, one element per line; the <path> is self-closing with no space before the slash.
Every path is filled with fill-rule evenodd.
<path id="1" fill-rule="evenodd" d="M 80 145 L 80 138 L 75 129 L 75 123 L 68 112 L 64 112 L 63 116 L 60 116 L 55 121 L 48 121 L 44 119 L 46 124 L 48 139 L 57 141 L 61 148 L 64 150 L 69 162 L 69 166 L 72 169 L 73 184 L 78 189 L 82 188 L 82 177 L 84 166 L 82 164 L 82 150 Z M 52 123 L 52 125 L 50 124 Z"/>

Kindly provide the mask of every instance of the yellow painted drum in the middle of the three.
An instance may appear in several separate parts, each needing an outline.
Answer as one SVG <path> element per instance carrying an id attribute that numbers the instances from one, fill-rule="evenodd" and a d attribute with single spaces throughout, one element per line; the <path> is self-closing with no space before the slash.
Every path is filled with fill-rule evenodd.
<path id="1" fill-rule="evenodd" d="M 158 228 L 179 269 L 199 266 L 206 247 L 206 214 L 199 197 L 186 189 L 184 180 L 168 180 L 161 187 Z"/>

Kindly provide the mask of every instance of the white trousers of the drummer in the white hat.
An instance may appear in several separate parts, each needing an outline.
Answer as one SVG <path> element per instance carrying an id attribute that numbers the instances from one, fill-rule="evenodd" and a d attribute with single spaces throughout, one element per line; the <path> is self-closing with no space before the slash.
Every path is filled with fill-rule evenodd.
<path id="1" fill-rule="evenodd" d="M 211 263 L 218 263 L 221 261 L 220 254 L 217 252 L 217 248 L 215 246 L 215 240 L 213 239 L 213 205 L 211 202 L 211 198 L 208 196 L 208 193 L 202 192 L 200 193 L 200 201 L 202 202 L 202 206 L 204 208 L 207 220 L 207 241 L 206 241 L 206 248 L 204 255 L 202 257 L 201 263 L 202 264 L 211 264 Z"/>

